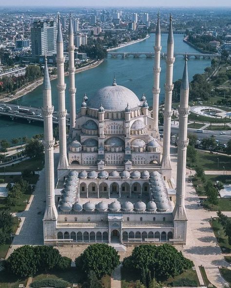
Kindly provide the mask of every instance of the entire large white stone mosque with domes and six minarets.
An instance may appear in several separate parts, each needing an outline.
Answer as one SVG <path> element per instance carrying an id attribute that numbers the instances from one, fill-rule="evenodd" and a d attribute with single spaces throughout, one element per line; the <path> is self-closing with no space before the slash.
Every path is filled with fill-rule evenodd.
<path id="1" fill-rule="evenodd" d="M 186 243 L 185 174 L 189 81 L 187 55 L 179 111 L 176 189 L 170 137 L 173 90 L 173 27 L 170 18 L 165 84 L 164 137 L 159 137 L 160 18 L 155 34 L 153 109 L 142 95 L 112 84 L 83 97 L 76 114 L 74 34 L 69 22 L 70 133 L 66 133 L 63 40 L 58 18 L 58 182 L 55 184 L 51 85 L 43 81 L 46 209 L 45 245 L 94 242 Z"/>

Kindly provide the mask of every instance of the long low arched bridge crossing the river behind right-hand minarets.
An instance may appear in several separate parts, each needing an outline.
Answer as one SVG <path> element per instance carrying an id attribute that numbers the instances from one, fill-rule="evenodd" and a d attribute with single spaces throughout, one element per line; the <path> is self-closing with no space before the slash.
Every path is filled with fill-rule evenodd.
<path id="1" fill-rule="evenodd" d="M 154 52 L 108 52 L 108 55 L 112 57 L 123 57 L 127 58 L 133 56 L 134 58 L 138 57 L 147 57 L 152 58 L 154 57 Z M 213 58 L 220 58 L 220 54 L 199 54 L 199 53 L 188 53 L 188 58 L 194 57 L 195 59 L 213 59 Z M 161 53 L 161 58 L 166 58 L 167 53 Z M 185 57 L 185 53 L 174 53 L 174 57 Z"/>

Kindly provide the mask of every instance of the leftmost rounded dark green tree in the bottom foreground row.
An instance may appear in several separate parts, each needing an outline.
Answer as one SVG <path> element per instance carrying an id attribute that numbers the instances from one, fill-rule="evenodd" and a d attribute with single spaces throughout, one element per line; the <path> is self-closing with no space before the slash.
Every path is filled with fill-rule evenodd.
<path id="1" fill-rule="evenodd" d="M 35 252 L 32 246 L 17 248 L 5 261 L 9 273 L 18 277 L 33 276 L 37 272 Z"/>

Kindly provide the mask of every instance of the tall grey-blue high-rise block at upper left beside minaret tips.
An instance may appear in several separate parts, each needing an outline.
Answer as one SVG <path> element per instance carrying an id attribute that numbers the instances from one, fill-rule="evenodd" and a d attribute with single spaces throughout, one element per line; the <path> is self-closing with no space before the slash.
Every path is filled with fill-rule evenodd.
<path id="1" fill-rule="evenodd" d="M 31 50 L 33 55 L 55 54 L 57 24 L 52 21 L 37 20 L 31 27 Z"/>

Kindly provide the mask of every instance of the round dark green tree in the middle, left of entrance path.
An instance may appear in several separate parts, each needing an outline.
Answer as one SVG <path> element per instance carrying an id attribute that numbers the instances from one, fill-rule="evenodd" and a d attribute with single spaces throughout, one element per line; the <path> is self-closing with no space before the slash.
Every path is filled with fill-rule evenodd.
<path id="1" fill-rule="evenodd" d="M 85 275 L 93 270 L 100 279 L 103 275 L 110 275 L 119 265 L 119 255 L 113 247 L 97 243 L 85 249 L 75 262 L 77 269 L 82 270 Z"/>

